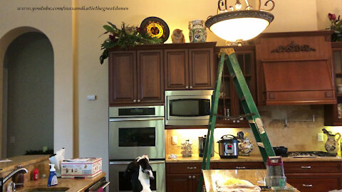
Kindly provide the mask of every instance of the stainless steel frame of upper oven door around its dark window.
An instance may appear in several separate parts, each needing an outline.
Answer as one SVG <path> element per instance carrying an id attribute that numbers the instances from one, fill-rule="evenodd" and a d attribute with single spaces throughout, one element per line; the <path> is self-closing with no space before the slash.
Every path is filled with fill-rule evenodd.
<path id="1" fill-rule="evenodd" d="M 155 138 L 150 138 L 155 139 L 155 146 L 119 146 L 119 129 L 146 129 L 147 127 L 155 127 Z M 165 159 L 164 119 L 157 117 L 149 121 L 110 121 L 109 159 L 135 159 L 142 154 L 148 154 L 150 159 Z"/>

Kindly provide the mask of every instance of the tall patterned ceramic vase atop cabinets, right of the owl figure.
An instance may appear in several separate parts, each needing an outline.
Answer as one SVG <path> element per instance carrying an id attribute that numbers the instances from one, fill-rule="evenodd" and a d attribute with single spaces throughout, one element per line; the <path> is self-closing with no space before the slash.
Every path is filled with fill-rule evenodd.
<path id="1" fill-rule="evenodd" d="M 207 31 L 205 30 L 204 21 L 189 21 L 189 38 L 190 43 L 205 42 L 207 40 Z"/>

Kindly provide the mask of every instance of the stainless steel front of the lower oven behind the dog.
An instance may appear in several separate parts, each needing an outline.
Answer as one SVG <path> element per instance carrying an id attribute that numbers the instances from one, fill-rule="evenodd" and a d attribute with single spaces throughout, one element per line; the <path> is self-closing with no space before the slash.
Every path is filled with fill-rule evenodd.
<path id="1" fill-rule="evenodd" d="M 110 192 L 132 192 L 132 191 L 119 191 L 119 172 L 124 172 L 127 169 L 128 164 L 131 161 L 110 161 L 109 165 L 109 180 L 110 183 L 115 185 L 110 186 Z M 156 171 L 156 191 L 153 192 L 165 192 L 165 161 L 150 161 L 152 171 Z"/>

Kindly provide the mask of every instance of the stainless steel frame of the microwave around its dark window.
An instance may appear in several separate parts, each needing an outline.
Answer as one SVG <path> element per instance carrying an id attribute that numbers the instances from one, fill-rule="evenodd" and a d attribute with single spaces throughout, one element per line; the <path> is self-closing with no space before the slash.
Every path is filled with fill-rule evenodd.
<path id="1" fill-rule="evenodd" d="M 209 115 L 179 117 L 170 115 L 170 100 L 204 99 L 211 104 L 213 90 L 170 90 L 165 91 L 165 125 L 192 126 L 209 124 Z M 210 107 L 210 106 L 209 106 Z"/>

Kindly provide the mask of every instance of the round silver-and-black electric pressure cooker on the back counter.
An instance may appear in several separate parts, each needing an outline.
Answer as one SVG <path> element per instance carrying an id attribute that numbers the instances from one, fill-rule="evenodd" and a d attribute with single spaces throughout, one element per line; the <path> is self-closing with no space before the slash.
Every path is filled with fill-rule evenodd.
<path id="1" fill-rule="evenodd" d="M 232 134 L 225 134 L 218 143 L 221 158 L 237 158 L 239 152 L 237 137 Z"/>

